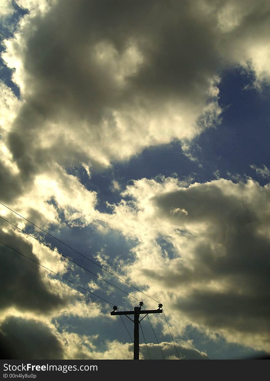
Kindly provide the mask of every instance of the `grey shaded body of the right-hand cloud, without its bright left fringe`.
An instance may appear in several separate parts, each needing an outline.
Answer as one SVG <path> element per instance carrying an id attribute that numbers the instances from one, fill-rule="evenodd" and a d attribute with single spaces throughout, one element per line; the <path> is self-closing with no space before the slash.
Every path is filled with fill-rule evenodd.
<path id="1" fill-rule="evenodd" d="M 191 257 L 185 260 L 183 253 L 184 261 L 172 272 L 145 274 L 170 289 L 190 287 L 187 296 L 177 296 L 175 308 L 191 321 L 265 333 L 270 340 L 268 186 L 220 180 L 167 192 L 153 202 L 159 217 L 191 234 L 192 248 Z"/>

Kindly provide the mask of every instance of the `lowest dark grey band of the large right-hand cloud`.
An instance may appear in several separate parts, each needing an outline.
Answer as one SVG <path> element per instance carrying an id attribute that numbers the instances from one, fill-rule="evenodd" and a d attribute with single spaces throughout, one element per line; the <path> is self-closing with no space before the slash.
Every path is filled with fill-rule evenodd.
<path id="1" fill-rule="evenodd" d="M 262 295 L 248 295 L 245 291 L 240 294 L 240 282 L 235 285 L 235 291 L 225 293 L 193 289 L 188 298 L 178 297 L 174 307 L 192 322 L 211 330 L 223 328 L 238 333 L 265 335 L 265 342 L 269 342 L 269 293 L 264 290 Z"/>

